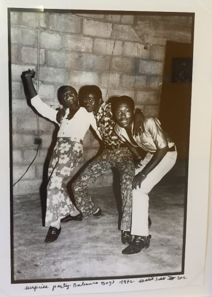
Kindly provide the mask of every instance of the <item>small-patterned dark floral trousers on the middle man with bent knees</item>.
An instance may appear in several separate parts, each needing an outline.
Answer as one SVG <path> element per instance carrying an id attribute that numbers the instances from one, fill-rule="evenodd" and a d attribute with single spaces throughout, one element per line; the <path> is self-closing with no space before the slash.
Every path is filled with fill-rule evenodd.
<path id="1" fill-rule="evenodd" d="M 121 230 L 130 230 L 132 208 L 132 180 L 134 163 L 128 148 L 104 149 L 103 153 L 94 159 L 72 185 L 78 209 L 84 217 L 92 215 L 97 206 L 91 199 L 87 188 L 111 167 L 116 167 L 121 176 L 122 221 Z"/>

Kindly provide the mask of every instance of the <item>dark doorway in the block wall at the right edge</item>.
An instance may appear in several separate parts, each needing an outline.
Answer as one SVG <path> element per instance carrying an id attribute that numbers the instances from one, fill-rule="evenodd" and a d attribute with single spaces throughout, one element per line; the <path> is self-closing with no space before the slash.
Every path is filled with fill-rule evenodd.
<path id="1" fill-rule="evenodd" d="M 193 44 L 167 42 L 159 118 L 176 144 L 178 161 L 188 159 Z"/>

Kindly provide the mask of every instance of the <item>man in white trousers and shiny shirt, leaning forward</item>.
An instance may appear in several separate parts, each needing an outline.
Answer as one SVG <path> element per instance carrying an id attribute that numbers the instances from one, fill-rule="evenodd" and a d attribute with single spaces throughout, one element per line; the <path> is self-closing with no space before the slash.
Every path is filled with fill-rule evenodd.
<path id="1" fill-rule="evenodd" d="M 149 192 L 170 171 L 176 162 L 177 152 L 163 131 L 160 121 L 152 116 L 144 117 L 144 129 L 138 136 L 132 135 L 134 121 L 134 101 L 128 96 L 121 96 L 115 103 L 115 131 L 125 142 L 136 159 L 135 177 L 132 182 L 132 220 L 131 235 L 133 241 L 122 253 L 134 254 L 148 248 Z M 147 153 L 142 159 L 139 149 Z"/>

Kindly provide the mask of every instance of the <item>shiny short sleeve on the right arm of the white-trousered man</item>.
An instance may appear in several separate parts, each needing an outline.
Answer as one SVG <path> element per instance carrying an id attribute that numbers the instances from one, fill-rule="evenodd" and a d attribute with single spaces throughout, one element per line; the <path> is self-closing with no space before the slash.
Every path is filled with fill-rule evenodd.
<path id="1" fill-rule="evenodd" d="M 145 119 L 144 129 L 151 134 L 156 148 L 165 148 L 168 146 L 166 135 L 157 118 L 149 117 Z"/>

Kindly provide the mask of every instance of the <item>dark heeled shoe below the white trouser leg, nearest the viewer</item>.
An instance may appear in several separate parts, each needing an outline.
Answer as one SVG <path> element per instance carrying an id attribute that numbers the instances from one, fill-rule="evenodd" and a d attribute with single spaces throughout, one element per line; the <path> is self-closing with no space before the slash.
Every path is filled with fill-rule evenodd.
<path id="1" fill-rule="evenodd" d="M 124 253 L 125 255 L 129 255 L 140 252 L 142 248 L 148 248 L 150 245 L 150 238 L 151 235 L 135 236 L 129 246 L 123 249 L 122 253 Z"/>

